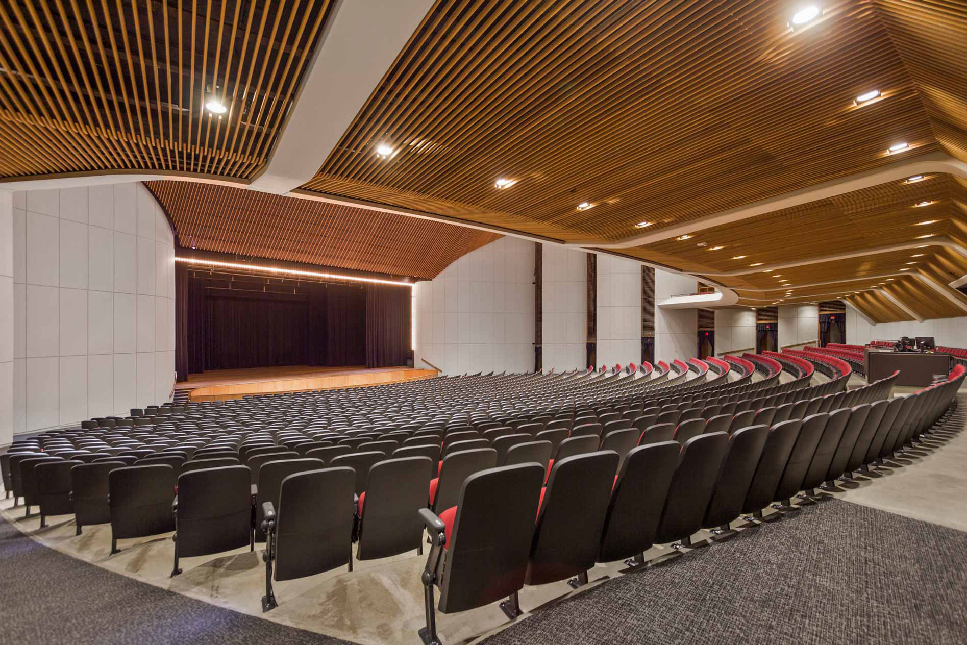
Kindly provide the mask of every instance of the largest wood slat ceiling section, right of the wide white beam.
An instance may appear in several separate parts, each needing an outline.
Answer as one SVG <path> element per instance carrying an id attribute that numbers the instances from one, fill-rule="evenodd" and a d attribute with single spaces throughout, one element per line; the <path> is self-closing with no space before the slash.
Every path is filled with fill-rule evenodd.
<path id="1" fill-rule="evenodd" d="M 791 32 L 781 1 L 441 0 L 305 188 L 614 240 L 940 150 L 883 11 L 827 10 Z"/>

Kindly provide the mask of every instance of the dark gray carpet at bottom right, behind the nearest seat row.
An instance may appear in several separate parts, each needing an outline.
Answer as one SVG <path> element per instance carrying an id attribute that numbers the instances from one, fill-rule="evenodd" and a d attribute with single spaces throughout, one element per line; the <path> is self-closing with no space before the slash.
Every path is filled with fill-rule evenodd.
<path id="1" fill-rule="evenodd" d="M 828 499 L 602 583 L 487 639 L 967 642 L 967 533 Z"/>

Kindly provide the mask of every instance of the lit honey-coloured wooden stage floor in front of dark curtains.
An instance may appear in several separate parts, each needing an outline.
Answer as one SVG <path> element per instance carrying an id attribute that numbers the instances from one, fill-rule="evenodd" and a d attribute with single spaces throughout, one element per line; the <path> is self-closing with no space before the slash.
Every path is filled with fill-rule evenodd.
<path id="1" fill-rule="evenodd" d="M 436 376 L 435 369 L 415 367 L 321 367 L 279 366 L 250 369 L 213 369 L 189 374 L 188 381 L 175 384 L 177 391 L 190 391 L 193 401 L 216 401 L 309 390 L 339 390 L 411 381 Z"/>

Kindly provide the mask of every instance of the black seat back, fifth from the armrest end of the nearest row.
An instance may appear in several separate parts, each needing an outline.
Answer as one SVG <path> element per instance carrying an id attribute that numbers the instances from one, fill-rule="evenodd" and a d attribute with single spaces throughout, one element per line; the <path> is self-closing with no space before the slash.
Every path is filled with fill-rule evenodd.
<path id="1" fill-rule="evenodd" d="M 768 425 L 749 425 L 729 436 L 728 452 L 718 473 L 716 489 L 702 518 L 703 529 L 728 524 L 742 513 L 768 437 Z"/>

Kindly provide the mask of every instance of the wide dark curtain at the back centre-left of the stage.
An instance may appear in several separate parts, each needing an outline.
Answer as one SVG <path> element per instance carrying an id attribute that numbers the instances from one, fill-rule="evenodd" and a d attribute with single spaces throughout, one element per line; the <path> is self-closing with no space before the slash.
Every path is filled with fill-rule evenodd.
<path id="1" fill-rule="evenodd" d="M 220 291 L 205 305 L 206 369 L 308 364 L 306 296 Z"/>

